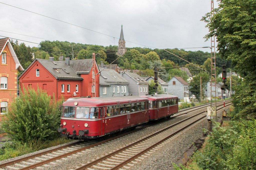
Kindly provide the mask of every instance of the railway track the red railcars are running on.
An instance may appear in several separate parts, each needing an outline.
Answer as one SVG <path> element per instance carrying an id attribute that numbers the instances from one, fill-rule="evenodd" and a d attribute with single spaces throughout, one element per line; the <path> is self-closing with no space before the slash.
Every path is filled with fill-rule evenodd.
<path id="1" fill-rule="evenodd" d="M 222 102 L 220 102 L 220 103 L 222 103 Z M 206 104 L 206 106 L 207 105 L 209 105 L 209 104 Z M 198 106 L 198 107 L 200 107 L 200 106 Z M 195 108 L 198 108 L 198 107 L 193 107 L 192 111 L 195 111 L 196 110 Z M 189 110 L 189 108 L 187 110 Z M 180 116 L 180 115 L 187 114 L 187 113 L 188 112 L 182 113 L 182 114 L 179 114 L 179 115 L 175 115 L 175 116 L 172 116 L 172 117 Z M 164 120 L 161 120 L 161 121 L 164 121 Z M 65 157 L 70 156 L 70 155 L 81 154 L 81 152 L 86 152 L 85 150 L 87 150 L 89 148 L 95 147 L 97 145 L 100 145 L 100 144 L 108 142 L 110 140 L 119 138 L 121 136 L 125 136 L 127 134 L 134 133 L 138 130 L 141 130 L 143 128 L 147 128 L 148 126 L 152 126 L 152 125 L 157 124 L 161 121 L 158 121 L 158 122 L 150 124 L 150 125 L 141 126 L 140 128 L 136 128 L 135 130 L 133 130 L 131 132 L 127 132 L 127 133 L 124 133 L 124 134 L 121 134 L 121 135 L 118 135 L 118 136 L 115 136 L 113 138 L 109 138 L 109 139 L 106 139 L 106 140 L 103 140 L 103 141 L 91 140 L 91 141 L 86 142 L 86 143 L 83 143 L 81 141 L 70 143 L 68 145 L 65 145 L 65 146 L 62 146 L 62 147 L 59 147 L 59 148 L 51 149 L 51 150 L 48 150 L 48 151 L 45 151 L 45 152 L 41 152 L 41 153 L 38 153 L 38 154 L 27 156 L 25 158 L 17 159 L 17 160 L 14 160 L 14 161 L 2 163 L 2 164 L 0 164 L 0 168 L 1 169 L 32 169 L 32 168 L 35 168 L 35 167 L 39 167 L 41 165 L 45 165 L 47 163 L 54 164 L 53 161 L 56 161 L 56 160 L 60 161 L 61 158 L 65 159 Z M 49 165 L 45 165 L 45 166 L 49 166 Z"/>

